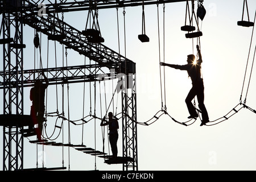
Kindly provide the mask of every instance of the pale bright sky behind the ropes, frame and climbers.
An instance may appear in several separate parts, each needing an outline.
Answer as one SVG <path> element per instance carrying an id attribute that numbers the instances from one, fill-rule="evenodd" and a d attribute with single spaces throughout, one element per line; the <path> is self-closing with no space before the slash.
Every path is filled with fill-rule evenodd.
<path id="1" fill-rule="evenodd" d="M 248 0 L 250 21 L 254 20 L 256 1 Z M 197 3 L 197 2 L 196 2 Z M 191 5 L 191 4 L 190 4 Z M 197 5 L 197 4 L 196 4 Z M 249 52 L 251 32 L 253 27 L 237 26 L 237 21 L 242 18 L 242 0 L 205 0 L 204 7 L 207 14 L 203 22 L 200 20 L 201 31 L 201 54 L 203 56 L 203 78 L 205 86 L 205 106 L 207 107 L 209 119 L 213 121 L 223 117 L 233 109 L 240 101 L 243 77 L 247 56 Z M 196 53 L 196 39 L 185 38 L 184 26 L 185 2 L 167 3 L 165 14 L 165 61 L 171 64 L 185 64 L 187 55 Z M 123 37 L 123 9 L 119 12 L 119 34 L 121 54 L 125 55 Z M 159 76 L 159 47 L 158 47 L 158 22 L 157 7 L 150 5 L 145 7 L 146 34 L 150 42 L 141 43 L 138 35 L 141 34 L 142 7 L 126 7 L 126 56 L 136 63 L 137 70 L 137 118 L 138 122 L 146 122 L 161 109 L 160 76 Z M 84 30 L 87 11 L 77 13 L 64 13 L 64 20 L 78 30 Z M 118 52 L 117 34 L 117 10 L 99 10 L 99 23 L 101 34 L 105 39 L 105 46 Z M 59 14 L 59 17 L 61 14 Z M 245 14 L 245 20 L 247 16 Z M 159 5 L 160 20 L 160 57 L 163 61 L 163 5 Z M 28 26 L 24 31 L 24 69 L 34 68 L 34 30 Z M 253 53 L 255 48 L 255 37 L 251 47 L 249 68 L 251 69 Z M 57 64 L 62 65 L 62 46 L 57 43 Z M 53 42 L 49 43 L 49 67 L 55 67 L 55 55 Z M 193 49 L 194 48 L 194 49 Z M 2 55 L 2 49 L 1 49 Z M 47 60 L 47 37 L 42 35 L 42 59 L 43 67 L 46 68 Z M 89 60 L 86 59 L 86 63 Z M 68 49 L 68 64 L 84 64 L 84 56 Z M 36 65 L 38 67 L 38 65 Z M 2 70 L 2 64 L 0 65 Z M 162 67 L 163 68 L 163 67 Z M 163 69 L 162 69 L 163 70 Z M 246 77 L 246 86 L 247 79 Z M 115 83 L 115 82 L 114 82 Z M 101 83 L 101 85 L 103 82 Z M 69 109 L 70 119 L 82 118 L 82 99 L 84 84 L 69 84 Z M 93 83 L 92 83 L 93 86 Z M 101 114 L 100 94 L 97 86 L 96 115 Z M 115 85 L 114 85 L 115 86 Z M 191 80 L 187 72 L 172 68 L 166 68 L 166 105 L 168 113 L 177 121 L 185 122 L 189 116 L 185 97 L 191 89 Z M 89 114 L 89 83 L 85 84 L 85 111 Z M 106 88 L 112 91 L 112 81 L 106 82 Z M 102 87 L 102 89 L 104 89 Z M 58 108 L 62 110 L 61 85 L 57 86 Z M 24 114 L 30 113 L 31 101 L 29 100 L 30 88 L 24 88 Z M 246 91 L 246 88 L 245 88 Z M 0 90 L 2 95 L 2 90 Z M 246 105 L 256 109 L 255 71 L 251 76 L 250 88 L 247 94 Z M 93 90 L 92 90 L 92 93 Z M 242 101 L 245 92 L 243 92 Z M 107 93 L 109 105 L 112 97 Z M 118 99 L 117 99 L 118 98 Z M 104 94 L 102 94 L 102 100 Z M 0 98 L 2 103 L 3 98 Z M 67 85 L 64 85 L 64 110 L 67 110 Z M 115 95 L 117 113 L 121 112 L 121 95 Z M 118 100 L 118 101 L 117 101 Z M 103 102 L 103 101 L 102 101 Z M 118 105 L 116 103 L 118 102 Z M 56 111 L 56 86 L 48 88 L 47 111 Z M 102 114 L 105 114 L 105 102 L 102 104 Z M 197 103 L 197 102 L 196 102 Z M 92 104 L 93 105 L 93 104 Z M 94 113 L 94 105 L 92 106 Z M 111 106 L 112 107 L 112 106 Z M 197 106 L 198 107 L 198 106 Z M 112 109 L 112 108 L 111 108 Z M 2 114 L 2 105 L 0 113 Z M 197 119 L 191 126 L 179 125 L 172 121 L 168 115 L 162 115 L 150 126 L 138 125 L 138 169 L 139 170 L 255 170 L 256 169 L 256 114 L 248 109 L 242 109 L 227 121 L 214 126 L 199 126 Z M 47 118 L 47 134 L 53 133 L 56 118 Z M 61 120 L 57 120 L 60 125 Z M 119 121 L 121 126 L 121 121 Z M 57 137 L 59 129 L 53 133 Z M 81 144 L 82 126 L 71 124 L 71 143 Z M 2 136 L 2 130 L 0 130 Z M 100 121 L 96 121 L 96 150 L 102 151 L 102 134 Z M 107 136 L 105 135 L 105 138 Z M 24 138 L 24 168 L 36 167 L 36 144 L 29 143 L 36 137 Z M 62 131 L 55 141 L 62 142 Z M 94 121 L 84 125 L 84 144 L 95 148 Z M 64 143 L 68 142 L 68 125 L 64 121 Z M 2 140 L 0 140 L 2 148 Z M 108 152 L 108 144 L 105 143 Z M 64 151 L 64 152 L 63 152 Z M 38 145 L 38 162 L 42 167 L 42 156 L 44 154 L 44 167 L 61 167 L 64 155 L 64 166 L 70 164 L 71 170 L 93 170 L 96 164 L 98 170 L 122 170 L 122 164 L 108 165 L 104 159 L 84 154 L 68 147 L 55 147 Z M 110 150 L 111 154 L 111 150 Z M 0 150 L 2 156 L 2 150 Z M 118 155 L 122 155 L 122 134 L 119 130 Z M 2 157 L 0 158 L 0 169 L 2 170 Z"/>

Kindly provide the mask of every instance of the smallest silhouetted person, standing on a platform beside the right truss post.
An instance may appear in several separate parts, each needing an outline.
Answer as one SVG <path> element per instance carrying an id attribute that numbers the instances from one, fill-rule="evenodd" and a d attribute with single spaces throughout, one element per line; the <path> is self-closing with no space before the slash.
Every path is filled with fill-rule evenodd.
<path id="1" fill-rule="evenodd" d="M 105 121 L 105 123 L 104 123 Z M 117 140 L 118 140 L 118 121 L 114 117 L 113 113 L 109 112 L 109 121 L 106 121 L 106 117 L 101 120 L 101 126 L 109 125 L 109 142 L 112 150 L 113 158 L 117 158 Z"/>

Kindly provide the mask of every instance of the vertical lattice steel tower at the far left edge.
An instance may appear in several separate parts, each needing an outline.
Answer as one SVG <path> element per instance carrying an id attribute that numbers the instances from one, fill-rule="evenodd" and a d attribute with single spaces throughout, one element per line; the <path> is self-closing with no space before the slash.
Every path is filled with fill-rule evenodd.
<path id="1" fill-rule="evenodd" d="M 2 7 L 3 10 L 5 6 Z M 2 14 L 3 39 L 13 43 L 3 44 L 3 113 L 23 114 L 23 22 L 22 14 Z M 23 129 L 23 127 L 22 127 Z M 13 150 L 14 148 L 14 150 Z M 18 127 L 3 126 L 3 170 L 23 168 L 23 134 Z"/>

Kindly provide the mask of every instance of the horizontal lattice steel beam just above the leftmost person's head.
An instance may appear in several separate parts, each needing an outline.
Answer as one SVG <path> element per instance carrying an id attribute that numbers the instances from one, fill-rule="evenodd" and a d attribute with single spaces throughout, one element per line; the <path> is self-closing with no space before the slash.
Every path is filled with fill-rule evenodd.
<path id="1" fill-rule="evenodd" d="M 115 73 L 104 73 L 102 67 L 98 64 L 93 65 L 76 65 L 69 67 L 45 68 L 45 69 L 28 69 L 23 73 L 18 71 L 18 75 L 23 75 L 23 86 L 34 86 L 35 80 L 41 80 L 42 72 L 47 76 L 49 85 L 71 84 L 76 82 L 99 81 L 104 74 L 105 79 L 115 78 Z M 16 75 L 16 71 L 7 72 L 6 74 Z M 0 72 L 0 78 L 3 78 L 3 72 Z M 43 81 L 43 80 L 42 80 Z M 15 88 L 16 81 L 11 81 L 11 87 Z M 20 83 L 18 83 L 20 85 Z M 3 89 L 3 82 L 0 81 L 0 89 Z"/>

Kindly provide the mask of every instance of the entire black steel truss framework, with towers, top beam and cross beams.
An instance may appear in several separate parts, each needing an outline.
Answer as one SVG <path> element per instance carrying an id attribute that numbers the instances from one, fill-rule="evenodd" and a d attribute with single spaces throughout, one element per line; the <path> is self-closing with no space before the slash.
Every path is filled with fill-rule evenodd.
<path id="1" fill-rule="evenodd" d="M 185 0 L 144 0 L 144 5 L 183 1 Z M 96 1 L 97 9 L 141 6 L 142 2 L 142 0 Z M 10 5 L 6 6 L 6 3 Z M 40 3 L 46 3 L 43 4 L 46 17 L 38 16 L 38 11 L 42 8 L 39 6 Z M 81 31 L 55 17 L 55 13 L 89 10 L 89 0 L 60 0 L 56 3 L 53 0 L 2 0 L 0 6 L 3 39 L 10 40 L 11 32 L 15 31 L 13 43 L 3 43 L 4 66 L 3 71 L 0 71 L 0 78 L 3 79 L 0 81 L 0 89 L 3 89 L 3 113 L 12 114 L 14 108 L 16 114 L 23 114 L 23 88 L 32 85 L 36 79 L 35 73 L 42 72 L 42 69 L 23 70 L 23 48 L 25 46 L 23 45 L 22 26 L 23 23 L 28 24 L 36 31 L 48 35 L 48 39 L 56 40 L 64 44 L 66 48 L 71 48 L 95 61 L 94 65 L 43 69 L 50 76 L 50 84 L 96 81 L 98 77 L 96 73 L 100 73 L 101 68 L 114 69 L 116 74 L 125 73 L 127 77 L 128 75 L 133 77 L 132 82 L 129 82 L 129 87 L 122 92 L 122 143 L 123 157 L 131 156 L 134 161 L 123 164 L 123 170 L 138 170 L 137 124 L 134 122 L 137 121 L 135 63 L 101 43 L 88 43 Z M 64 37 L 59 39 L 57 35 L 64 35 Z M 13 57 L 15 57 L 14 61 Z M 85 70 L 89 68 L 94 70 L 86 75 Z M 23 133 L 19 129 L 19 127 L 3 126 L 3 170 L 23 169 Z M 15 146 L 14 154 L 13 146 Z"/>

